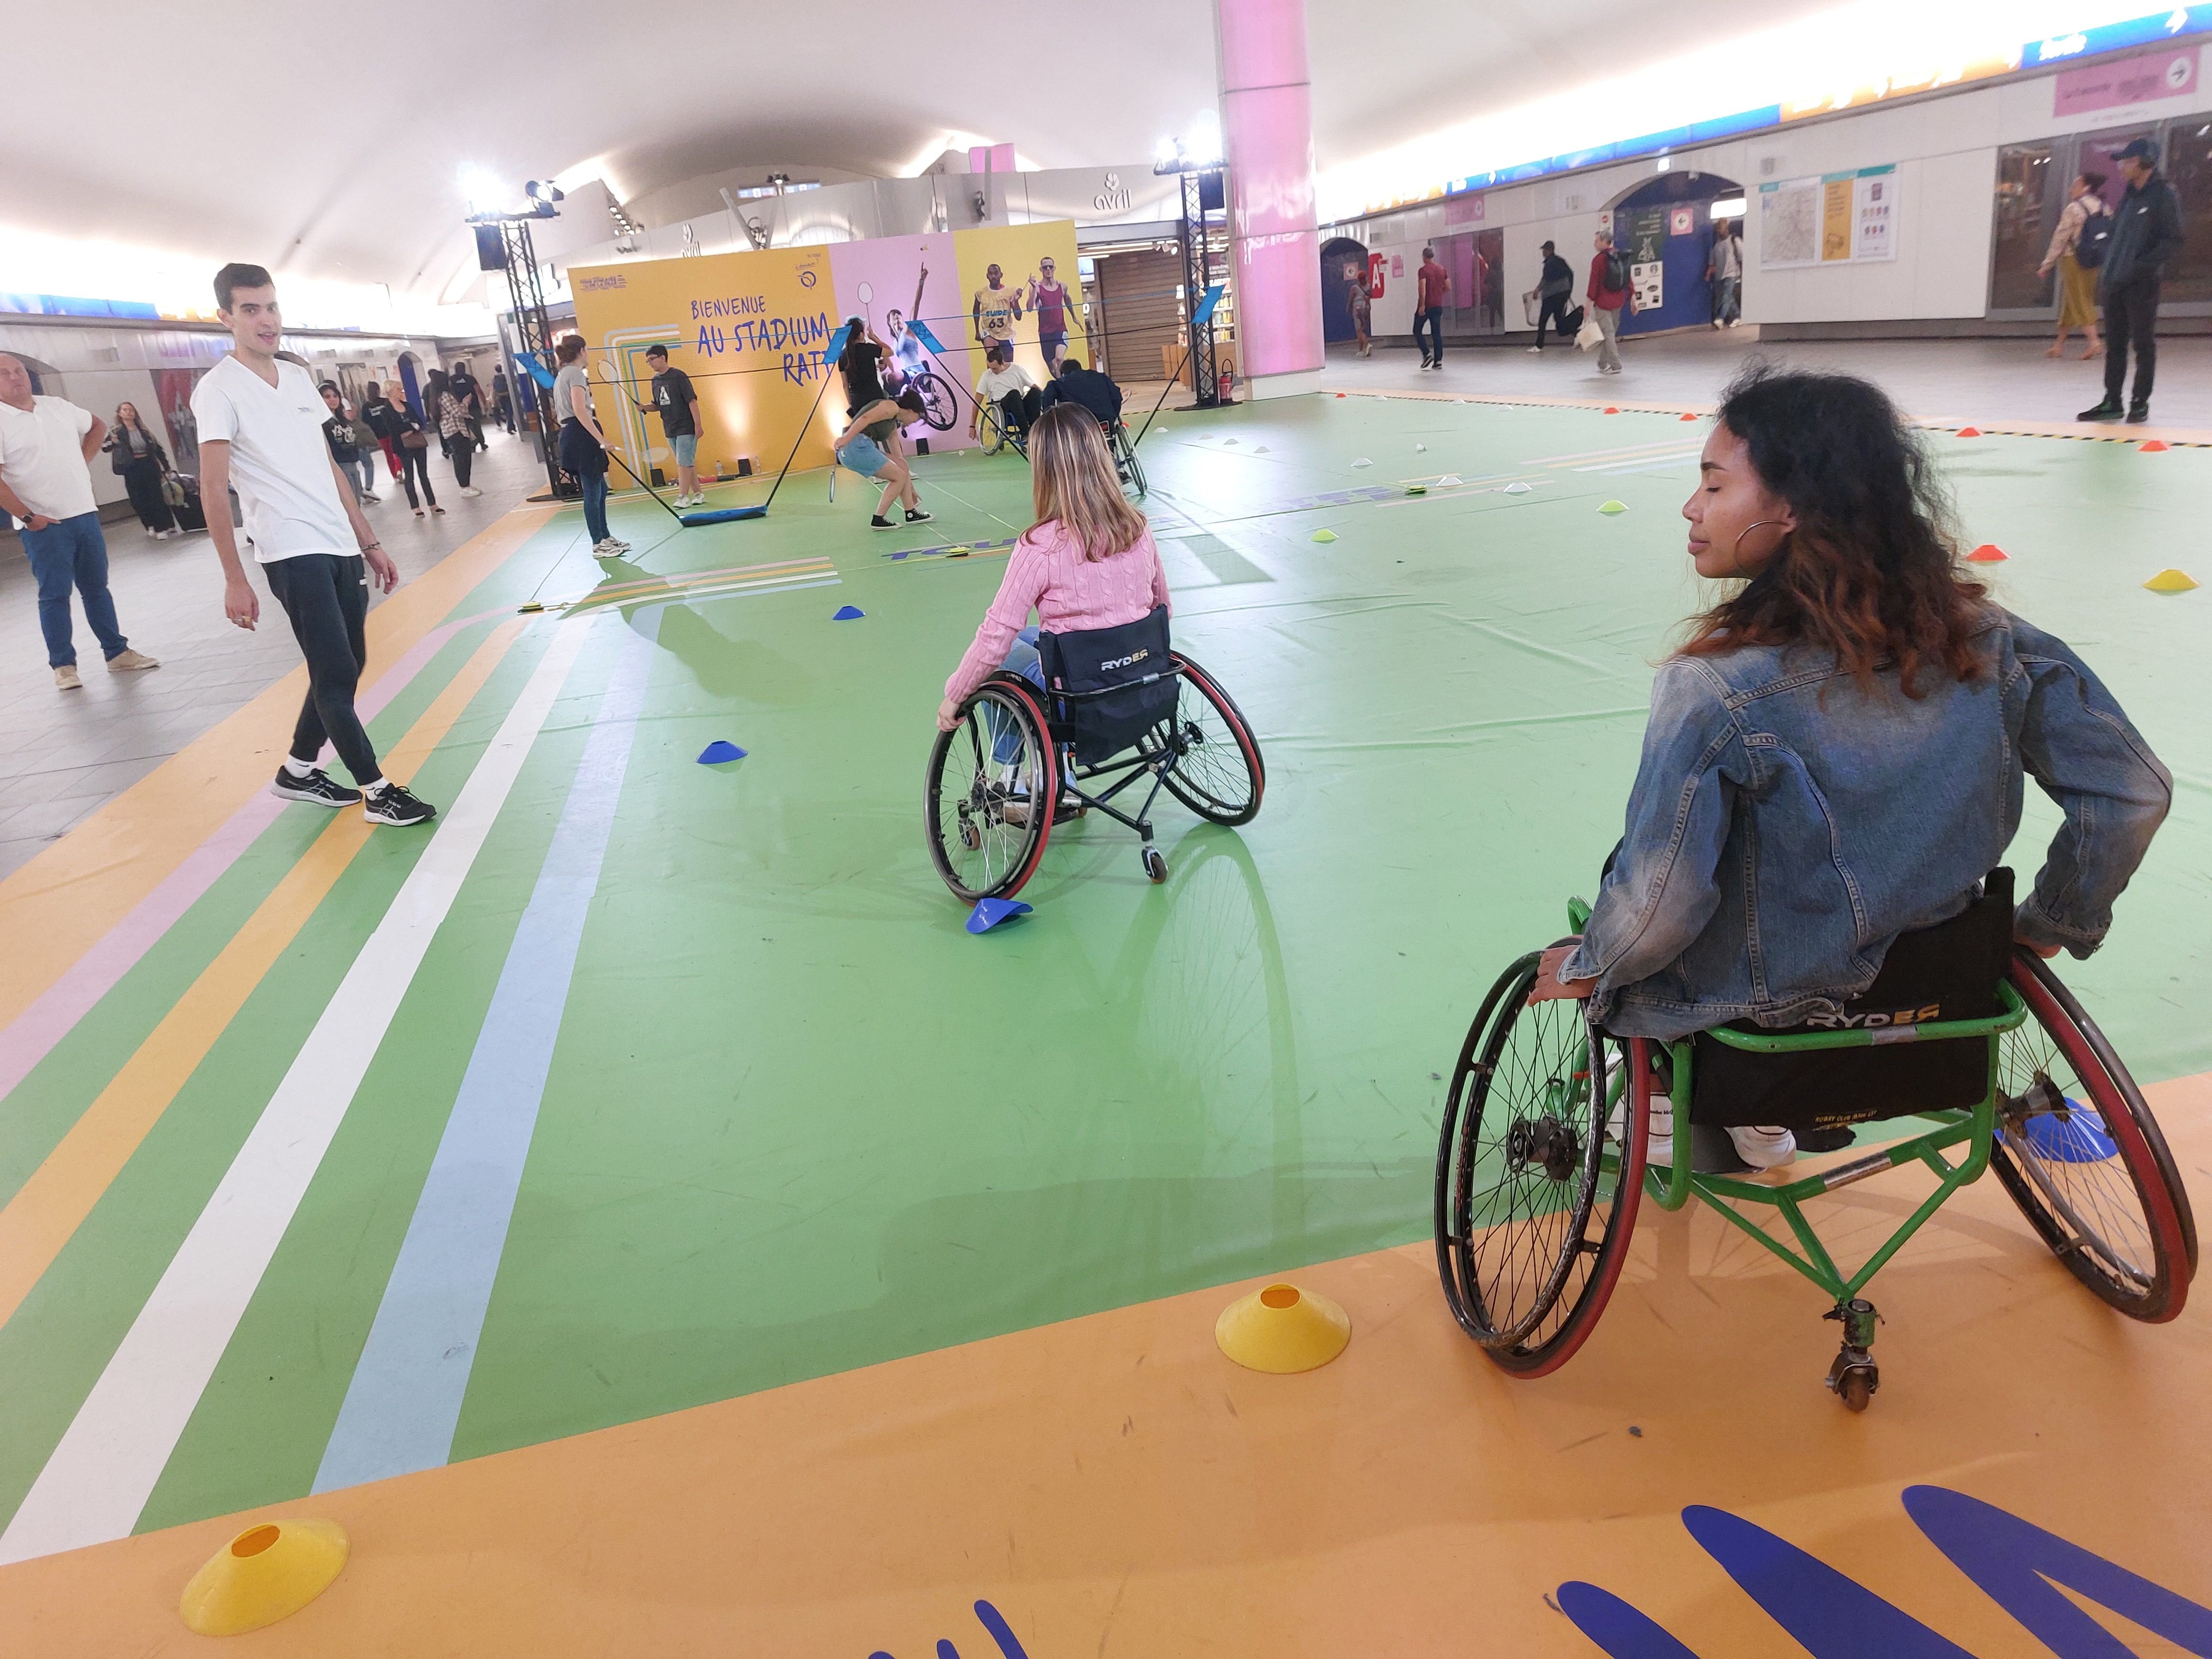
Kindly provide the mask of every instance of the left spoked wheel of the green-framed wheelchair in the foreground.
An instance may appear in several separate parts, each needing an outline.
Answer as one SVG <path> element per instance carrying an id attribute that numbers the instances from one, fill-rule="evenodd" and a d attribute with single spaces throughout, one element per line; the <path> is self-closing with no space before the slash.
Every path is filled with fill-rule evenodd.
<path id="1" fill-rule="evenodd" d="M 1628 1256 L 1648 1102 L 1630 1046 L 1582 1002 L 1528 1004 L 1540 953 L 1491 987 L 1460 1048 L 1436 1148 L 1436 1265 L 1453 1318 L 1502 1369 L 1582 1347 Z"/>

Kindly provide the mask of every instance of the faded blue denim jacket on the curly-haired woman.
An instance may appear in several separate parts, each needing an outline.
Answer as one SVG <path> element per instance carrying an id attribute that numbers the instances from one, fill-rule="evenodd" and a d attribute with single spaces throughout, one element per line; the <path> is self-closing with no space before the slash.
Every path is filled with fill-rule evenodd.
<path id="1" fill-rule="evenodd" d="M 1628 834 L 1562 978 L 1593 1018 L 1681 1037 L 1796 1024 L 1860 995 L 1891 940 L 1949 920 L 2004 858 L 2033 772 L 2066 812 L 2017 931 L 2088 956 L 2172 779 L 2088 666 L 1991 606 L 1991 672 L 1911 699 L 1834 659 L 1677 657 L 1652 686 Z M 1940 670 L 1936 670 L 1940 675 Z"/>

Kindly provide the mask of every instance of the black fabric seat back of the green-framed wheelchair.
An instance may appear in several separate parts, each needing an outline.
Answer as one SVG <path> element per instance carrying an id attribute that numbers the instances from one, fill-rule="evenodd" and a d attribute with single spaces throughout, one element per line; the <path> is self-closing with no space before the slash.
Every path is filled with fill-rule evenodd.
<path id="1" fill-rule="evenodd" d="M 1986 1020 L 2004 1011 L 1997 984 L 2013 958 L 2013 872 L 1993 869 L 1982 896 L 1949 922 L 1900 933 L 1867 993 L 1843 1013 L 1785 1031 L 1911 1031 L 1936 1020 Z M 1690 1121 L 1712 1126 L 1781 1124 L 1836 1128 L 1876 1117 L 1964 1110 L 1989 1093 L 1986 1037 L 1907 1042 L 1871 1048 L 1816 1048 L 1761 1055 L 1697 1033 L 1690 1062 Z"/>

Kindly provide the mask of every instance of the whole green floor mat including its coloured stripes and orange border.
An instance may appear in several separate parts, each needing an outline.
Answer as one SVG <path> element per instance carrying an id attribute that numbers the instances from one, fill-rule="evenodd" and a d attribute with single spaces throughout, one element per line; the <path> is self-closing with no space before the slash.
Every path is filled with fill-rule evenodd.
<path id="1" fill-rule="evenodd" d="M 922 462 L 927 533 L 814 476 L 708 531 L 617 502 L 619 566 L 573 511 L 458 549 L 372 639 L 436 834 L 272 807 L 276 686 L 0 883 L 44 942 L 0 962 L 0 1628 L 181 1648 L 181 1579 L 270 1509 L 356 1548 L 272 1652 L 1588 1652 L 1546 1606 L 1571 1579 L 1772 1650 L 1783 1615 L 1714 1573 L 1765 1546 L 1677 1520 L 1710 1504 L 2020 1650 L 1916 1484 L 2212 1599 L 2201 1436 L 2141 1429 L 2192 1420 L 2203 1310 L 2106 1316 L 1993 1183 L 1887 1270 L 1865 1418 L 1818 1389 L 1805 1287 L 1710 1219 L 1639 1230 L 1555 1378 L 1504 1383 L 1442 1310 L 1438 1073 L 1617 834 L 1701 597 L 1697 440 L 1170 416 L 1177 641 L 1252 717 L 1267 805 L 1164 814 L 1164 887 L 1071 825 L 982 938 L 918 794 L 1004 562 L 933 553 L 1026 524 L 1018 458 Z M 2141 1077 L 2205 1073 L 2201 602 L 2141 582 L 2199 560 L 2212 451 L 1933 442 L 2000 595 L 2183 779 L 2066 978 Z M 714 739 L 748 759 L 699 765 Z M 2159 1102 L 2199 1179 L 2203 1084 Z M 1896 1181 L 1836 1199 L 1843 1250 Z M 1210 1347 L 1279 1272 L 1356 1323 L 1307 1378 Z"/>

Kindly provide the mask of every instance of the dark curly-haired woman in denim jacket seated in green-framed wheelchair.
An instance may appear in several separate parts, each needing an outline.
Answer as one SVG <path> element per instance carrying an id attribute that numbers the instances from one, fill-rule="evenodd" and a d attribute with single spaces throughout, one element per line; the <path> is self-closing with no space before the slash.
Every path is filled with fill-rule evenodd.
<path id="1" fill-rule="evenodd" d="M 1889 398 L 1754 367 L 1683 518 L 1697 573 L 1743 586 L 1661 664 L 1626 836 L 1528 1000 L 1588 998 L 1606 1031 L 1657 1040 L 1836 1015 L 1900 933 L 1975 898 L 2024 774 L 2066 821 L 2013 936 L 2095 951 L 2172 779 L 2062 639 L 1964 575 L 1947 491 Z M 1655 1115 L 1670 1161 L 1661 1135 Z M 1783 1126 L 1730 1135 L 1756 1168 L 1796 1155 Z"/>

